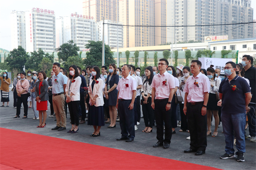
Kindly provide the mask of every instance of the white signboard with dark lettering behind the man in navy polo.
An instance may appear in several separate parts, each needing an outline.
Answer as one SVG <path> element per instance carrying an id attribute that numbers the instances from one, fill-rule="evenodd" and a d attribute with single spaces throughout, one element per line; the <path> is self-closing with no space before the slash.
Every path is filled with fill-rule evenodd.
<path id="1" fill-rule="evenodd" d="M 224 66 L 227 62 L 232 61 L 232 58 L 198 58 L 202 62 L 202 68 L 207 70 L 210 65 L 214 65 L 214 69 L 220 69 L 220 73 L 224 73 Z"/>

